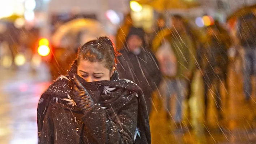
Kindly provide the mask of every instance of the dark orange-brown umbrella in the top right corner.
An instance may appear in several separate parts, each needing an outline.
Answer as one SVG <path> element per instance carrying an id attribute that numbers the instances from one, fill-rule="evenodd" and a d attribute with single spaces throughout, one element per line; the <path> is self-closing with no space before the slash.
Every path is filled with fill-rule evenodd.
<path id="1" fill-rule="evenodd" d="M 256 12 L 256 4 L 251 6 L 244 6 L 243 8 L 236 10 L 229 17 L 227 17 L 227 21 L 230 21 L 231 19 L 237 19 L 247 14 L 255 13 L 255 12 Z"/>

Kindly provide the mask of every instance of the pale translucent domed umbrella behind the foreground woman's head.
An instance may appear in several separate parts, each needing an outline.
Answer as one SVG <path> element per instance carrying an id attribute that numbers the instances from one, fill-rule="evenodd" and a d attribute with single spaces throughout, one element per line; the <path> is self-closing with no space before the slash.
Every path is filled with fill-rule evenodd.
<path id="1" fill-rule="evenodd" d="M 52 44 L 59 47 L 63 45 L 63 43 L 66 43 L 67 39 L 72 39 L 77 42 L 78 36 L 81 35 L 81 33 L 87 37 L 86 39 L 83 38 L 83 42 L 80 43 L 85 43 L 85 41 L 106 35 L 100 22 L 94 19 L 79 18 L 60 26 L 52 36 Z"/>

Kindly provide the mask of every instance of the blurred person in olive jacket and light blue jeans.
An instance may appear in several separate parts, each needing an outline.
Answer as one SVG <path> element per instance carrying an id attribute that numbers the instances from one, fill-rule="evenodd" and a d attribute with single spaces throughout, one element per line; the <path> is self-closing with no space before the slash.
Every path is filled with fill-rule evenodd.
<path id="1" fill-rule="evenodd" d="M 160 90 L 161 95 L 166 98 L 164 105 L 167 110 L 167 118 L 170 119 L 170 99 L 176 94 L 174 122 L 177 126 L 181 126 L 182 103 L 184 97 L 187 96 L 188 83 L 191 81 L 195 68 L 196 52 L 195 44 L 185 27 L 184 19 L 181 16 L 174 15 L 172 16 L 172 25 L 170 33 L 162 40 L 156 53 L 158 60 L 161 59 L 159 60 L 160 67 L 166 69 L 161 69 L 165 79 Z M 163 59 L 163 57 L 166 58 Z"/>

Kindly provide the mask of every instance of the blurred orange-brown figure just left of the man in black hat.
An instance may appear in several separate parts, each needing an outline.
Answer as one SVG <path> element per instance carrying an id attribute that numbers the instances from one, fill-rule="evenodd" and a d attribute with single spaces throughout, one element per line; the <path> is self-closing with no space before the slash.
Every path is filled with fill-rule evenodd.
<path id="1" fill-rule="evenodd" d="M 133 25 L 131 14 L 127 14 L 124 18 L 124 23 L 118 29 L 116 33 L 116 47 L 122 49 L 125 45 L 125 39 L 127 38 L 128 32 Z"/>

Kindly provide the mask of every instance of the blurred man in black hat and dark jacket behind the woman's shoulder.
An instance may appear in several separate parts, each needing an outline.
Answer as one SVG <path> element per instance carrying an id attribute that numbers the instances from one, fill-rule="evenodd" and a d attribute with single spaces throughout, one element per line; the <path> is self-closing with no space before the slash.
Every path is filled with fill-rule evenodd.
<path id="1" fill-rule="evenodd" d="M 118 57 L 120 78 L 130 79 L 142 89 L 148 113 L 151 109 L 151 95 L 161 82 L 162 75 L 154 54 L 146 48 L 145 32 L 132 27 L 126 39 L 126 47 Z"/>

